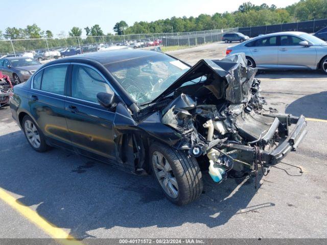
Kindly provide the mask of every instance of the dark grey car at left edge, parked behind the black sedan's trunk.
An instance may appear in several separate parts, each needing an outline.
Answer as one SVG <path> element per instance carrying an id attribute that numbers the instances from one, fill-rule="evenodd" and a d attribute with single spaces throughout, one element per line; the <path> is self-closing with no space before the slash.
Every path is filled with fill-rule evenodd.
<path id="1" fill-rule="evenodd" d="M 0 71 L 9 76 L 14 84 L 27 81 L 42 64 L 29 57 L 6 57 L 0 59 Z"/>

